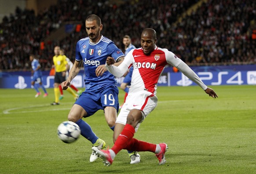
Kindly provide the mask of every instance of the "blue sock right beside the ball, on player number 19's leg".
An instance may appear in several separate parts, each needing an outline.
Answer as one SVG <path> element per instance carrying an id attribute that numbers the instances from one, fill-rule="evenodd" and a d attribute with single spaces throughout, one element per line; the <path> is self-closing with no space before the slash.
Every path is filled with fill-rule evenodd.
<path id="1" fill-rule="evenodd" d="M 94 144 L 98 137 L 94 134 L 92 131 L 90 125 L 86 123 L 84 120 L 80 119 L 77 121 L 77 125 L 80 127 L 81 135 L 91 141 L 92 144 Z"/>

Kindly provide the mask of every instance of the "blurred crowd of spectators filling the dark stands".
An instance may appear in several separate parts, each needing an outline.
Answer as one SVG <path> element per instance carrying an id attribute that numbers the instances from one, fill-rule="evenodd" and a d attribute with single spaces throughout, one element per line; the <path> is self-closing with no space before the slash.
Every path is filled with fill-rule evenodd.
<path id="1" fill-rule="evenodd" d="M 256 62 L 256 1 L 208 0 L 194 8 L 199 0 L 126 0 L 110 4 L 107 0 L 58 0 L 35 15 L 33 10 L 16 8 L 0 23 L 0 69 L 30 69 L 29 54 L 36 54 L 43 69 L 52 65 L 53 49 L 62 47 L 74 62 L 78 40 L 87 37 L 84 20 L 96 14 L 102 19 L 102 34 L 124 49 L 122 37 L 129 35 L 140 47 L 144 28 L 157 32 L 157 46 L 167 48 L 184 62 L 239 63 Z M 63 40 L 44 40 L 65 22 L 80 21 L 80 28 Z"/>

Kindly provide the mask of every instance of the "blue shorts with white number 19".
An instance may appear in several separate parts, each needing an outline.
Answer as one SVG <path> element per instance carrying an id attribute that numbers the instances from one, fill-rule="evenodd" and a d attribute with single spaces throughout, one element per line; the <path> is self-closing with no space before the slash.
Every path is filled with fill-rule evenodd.
<path id="1" fill-rule="evenodd" d="M 85 90 L 75 104 L 80 105 L 87 112 L 87 116 L 84 117 L 92 116 L 98 110 L 104 110 L 106 106 L 112 106 L 118 112 L 118 92 L 116 87 L 108 87 L 99 93 L 91 93 Z"/>

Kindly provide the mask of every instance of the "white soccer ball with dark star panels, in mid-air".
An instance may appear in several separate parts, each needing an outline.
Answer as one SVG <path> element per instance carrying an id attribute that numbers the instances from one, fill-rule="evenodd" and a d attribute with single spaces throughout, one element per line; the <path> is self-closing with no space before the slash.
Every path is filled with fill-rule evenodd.
<path id="1" fill-rule="evenodd" d="M 76 141 L 79 138 L 80 133 L 80 127 L 72 121 L 62 122 L 57 129 L 59 139 L 65 143 Z"/>

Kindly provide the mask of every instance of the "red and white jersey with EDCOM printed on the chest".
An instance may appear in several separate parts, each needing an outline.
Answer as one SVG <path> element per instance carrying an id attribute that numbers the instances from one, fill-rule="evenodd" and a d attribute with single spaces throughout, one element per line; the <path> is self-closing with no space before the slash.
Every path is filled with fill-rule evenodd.
<path id="1" fill-rule="evenodd" d="M 155 47 L 150 55 L 143 53 L 142 48 L 130 51 L 124 58 L 124 64 L 133 66 L 132 82 L 129 94 L 138 91 L 149 91 L 156 94 L 157 81 L 165 65 L 178 66 L 182 62 L 175 54 L 167 49 Z"/>

